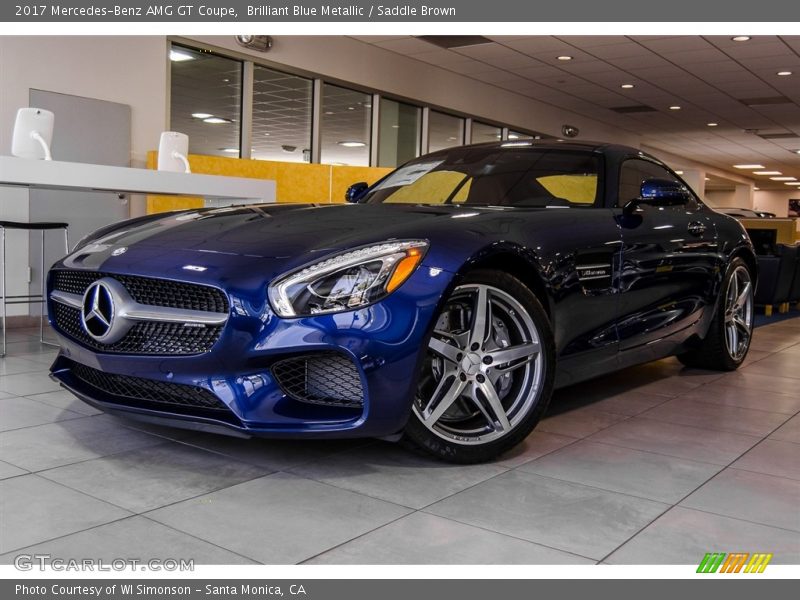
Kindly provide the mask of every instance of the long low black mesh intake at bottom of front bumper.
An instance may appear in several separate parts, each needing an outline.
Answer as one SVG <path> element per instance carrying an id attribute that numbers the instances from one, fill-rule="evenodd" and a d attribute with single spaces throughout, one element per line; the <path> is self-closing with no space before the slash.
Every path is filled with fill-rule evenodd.
<path id="1" fill-rule="evenodd" d="M 84 386 L 113 396 L 115 404 L 162 410 L 165 408 L 170 410 L 199 409 L 215 413 L 230 413 L 230 416 L 235 419 L 230 408 L 205 388 L 105 373 L 72 361 L 70 361 L 69 372 Z M 186 411 L 178 410 L 178 412 Z"/>

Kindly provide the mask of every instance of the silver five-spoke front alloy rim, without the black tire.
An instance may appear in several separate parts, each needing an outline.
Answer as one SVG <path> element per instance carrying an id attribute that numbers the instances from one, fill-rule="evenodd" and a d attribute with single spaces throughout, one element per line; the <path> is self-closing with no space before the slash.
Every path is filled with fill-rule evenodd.
<path id="1" fill-rule="evenodd" d="M 414 412 L 450 442 L 502 437 L 541 395 L 541 350 L 533 319 L 512 295 L 485 284 L 459 286 L 431 336 Z"/>

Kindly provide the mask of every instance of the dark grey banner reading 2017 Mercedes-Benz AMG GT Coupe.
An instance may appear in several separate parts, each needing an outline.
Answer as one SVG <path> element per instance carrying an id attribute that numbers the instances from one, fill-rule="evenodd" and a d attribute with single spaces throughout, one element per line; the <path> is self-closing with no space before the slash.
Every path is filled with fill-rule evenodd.
<path id="1" fill-rule="evenodd" d="M 786 0 L 4 0 L 0 22 L 777 22 Z M 602 31 L 598 31 L 602 33 Z"/>

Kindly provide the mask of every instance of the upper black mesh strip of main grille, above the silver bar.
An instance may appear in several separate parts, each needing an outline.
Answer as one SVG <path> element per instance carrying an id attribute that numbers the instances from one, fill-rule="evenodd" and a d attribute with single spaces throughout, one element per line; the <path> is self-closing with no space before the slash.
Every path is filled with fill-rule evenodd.
<path id="1" fill-rule="evenodd" d="M 59 270 L 53 273 L 53 289 L 82 296 L 86 288 L 103 277 L 110 277 L 122 283 L 139 304 L 205 312 L 228 312 L 228 298 L 222 290 L 208 285 L 153 277 L 117 275 L 99 271 Z"/>

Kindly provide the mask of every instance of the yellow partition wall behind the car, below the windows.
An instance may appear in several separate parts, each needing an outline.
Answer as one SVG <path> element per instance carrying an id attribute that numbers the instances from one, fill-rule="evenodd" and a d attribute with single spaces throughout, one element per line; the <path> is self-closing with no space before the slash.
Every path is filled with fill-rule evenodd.
<path id="1" fill-rule="evenodd" d="M 155 169 L 158 152 L 147 153 L 147 167 Z M 344 202 L 347 188 L 357 181 L 374 183 L 391 169 L 381 167 L 346 167 L 312 165 L 267 160 L 227 158 L 190 154 L 192 173 L 274 179 L 278 202 Z M 202 198 L 187 196 L 148 196 L 147 212 L 199 208 Z"/>

